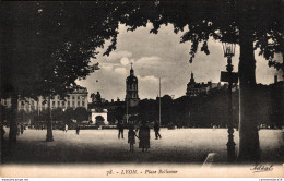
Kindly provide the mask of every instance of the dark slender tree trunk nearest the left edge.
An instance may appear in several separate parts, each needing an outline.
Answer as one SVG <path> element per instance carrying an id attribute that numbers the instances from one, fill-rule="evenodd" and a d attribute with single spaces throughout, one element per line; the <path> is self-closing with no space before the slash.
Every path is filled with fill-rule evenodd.
<path id="1" fill-rule="evenodd" d="M 9 130 L 9 145 L 11 147 L 16 143 L 16 112 L 17 112 L 17 95 L 13 94 L 11 97 L 11 119 L 10 119 L 10 130 Z"/>

